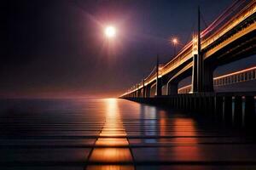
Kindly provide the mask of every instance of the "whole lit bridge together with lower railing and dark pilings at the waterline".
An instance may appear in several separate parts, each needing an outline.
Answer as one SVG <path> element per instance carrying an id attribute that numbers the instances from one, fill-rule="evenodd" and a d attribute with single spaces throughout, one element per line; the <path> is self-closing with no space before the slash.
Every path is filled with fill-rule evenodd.
<path id="1" fill-rule="evenodd" d="M 214 87 L 255 79 L 256 67 L 213 77 L 213 71 L 239 59 L 256 54 L 256 2 L 236 1 L 201 31 L 165 65 L 156 66 L 142 82 L 128 89 L 120 98 L 167 105 L 197 113 L 209 113 L 224 122 L 249 125 L 255 116 L 254 92 L 215 93 Z M 178 83 L 192 77 L 189 86 Z"/>

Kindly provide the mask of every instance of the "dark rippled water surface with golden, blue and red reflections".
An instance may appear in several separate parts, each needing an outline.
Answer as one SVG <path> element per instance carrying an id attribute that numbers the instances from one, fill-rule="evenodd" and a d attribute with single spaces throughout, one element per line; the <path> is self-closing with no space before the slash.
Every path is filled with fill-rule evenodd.
<path id="1" fill-rule="evenodd" d="M 0 169 L 255 169 L 256 138 L 124 99 L 0 101 Z"/>

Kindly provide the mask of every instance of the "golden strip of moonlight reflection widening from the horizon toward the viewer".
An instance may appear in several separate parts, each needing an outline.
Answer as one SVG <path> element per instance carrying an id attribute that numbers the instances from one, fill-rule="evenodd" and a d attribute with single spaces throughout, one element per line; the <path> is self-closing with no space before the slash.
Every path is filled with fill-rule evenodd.
<path id="1" fill-rule="evenodd" d="M 105 99 L 106 104 L 106 121 L 102 127 L 99 138 L 91 152 L 90 163 L 130 163 L 132 164 L 131 150 L 126 138 L 127 133 L 123 126 L 119 113 L 119 105 L 117 99 Z M 99 148 L 104 146 L 104 148 Z M 119 147 L 122 148 L 119 148 Z M 133 170 L 133 166 L 115 166 L 108 165 L 97 166 L 97 169 L 129 169 Z M 86 169 L 95 169 L 95 166 L 88 166 Z"/>

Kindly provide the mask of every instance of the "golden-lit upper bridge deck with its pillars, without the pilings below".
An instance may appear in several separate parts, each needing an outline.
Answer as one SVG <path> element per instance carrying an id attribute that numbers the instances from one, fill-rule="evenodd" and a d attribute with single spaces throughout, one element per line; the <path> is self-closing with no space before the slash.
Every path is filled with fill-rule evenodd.
<path id="1" fill-rule="evenodd" d="M 177 84 L 192 76 L 190 93 L 213 92 L 213 71 L 256 54 L 255 1 L 236 1 L 166 65 L 159 65 L 121 97 L 150 97 L 177 94 Z M 200 14 L 199 14 L 200 16 Z"/>

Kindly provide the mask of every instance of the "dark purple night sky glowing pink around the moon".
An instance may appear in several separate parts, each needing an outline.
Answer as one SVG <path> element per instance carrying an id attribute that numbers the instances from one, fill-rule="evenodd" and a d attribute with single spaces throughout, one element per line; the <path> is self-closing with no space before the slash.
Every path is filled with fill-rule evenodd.
<path id="1" fill-rule="evenodd" d="M 201 5 L 208 25 L 232 0 L 32 0 L 1 3 L 0 96 L 118 96 L 172 59 Z M 117 27 L 109 41 L 105 26 Z M 202 23 L 202 26 L 205 26 Z"/>

